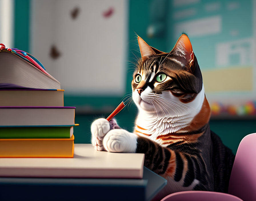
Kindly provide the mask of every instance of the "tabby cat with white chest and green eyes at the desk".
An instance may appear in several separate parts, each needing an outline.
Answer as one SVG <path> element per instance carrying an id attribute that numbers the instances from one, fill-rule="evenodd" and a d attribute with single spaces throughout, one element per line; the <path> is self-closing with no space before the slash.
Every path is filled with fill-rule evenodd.
<path id="1" fill-rule="evenodd" d="M 138 108 L 134 132 L 104 118 L 91 125 L 96 150 L 144 153 L 144 165 L 167 179 L 155 198 L 173 192 L 227 192 L 232 151 L 210 130 L 211 109 L 197 58 L 186 34 L 164 53 L 138 37 L 141 60 L 132 80 Z"/>

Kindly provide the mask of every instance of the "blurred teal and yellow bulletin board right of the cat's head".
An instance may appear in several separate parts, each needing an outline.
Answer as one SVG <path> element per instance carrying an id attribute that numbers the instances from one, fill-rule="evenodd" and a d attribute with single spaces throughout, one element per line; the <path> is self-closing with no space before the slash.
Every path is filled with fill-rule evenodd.
<path id="1" fill-rule="evenodd" d="M 253 0 L 172 1 L 169 49 L 188 33 L 213 113 L 231 106 L 231 113 L 255 114 L 255 5 Z"/>

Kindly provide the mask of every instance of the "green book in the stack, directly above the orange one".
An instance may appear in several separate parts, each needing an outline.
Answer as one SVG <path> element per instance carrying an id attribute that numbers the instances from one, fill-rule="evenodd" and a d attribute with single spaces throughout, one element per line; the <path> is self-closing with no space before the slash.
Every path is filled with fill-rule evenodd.
<path id="1" fill-rule="evenodd" d="M 74 125 L 64 126 L 0 126 L 0 138 L 71 138 Z"/>

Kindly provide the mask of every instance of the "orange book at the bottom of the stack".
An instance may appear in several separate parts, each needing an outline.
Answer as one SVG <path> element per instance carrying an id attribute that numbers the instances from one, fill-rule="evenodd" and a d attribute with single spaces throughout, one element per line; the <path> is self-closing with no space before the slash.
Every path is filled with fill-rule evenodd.
<path id="1" fill-rule="evenodd" d="M 71 138 L 0 139 L 0 158 L 72 158 L 73 151 L 74 135 Z"/>

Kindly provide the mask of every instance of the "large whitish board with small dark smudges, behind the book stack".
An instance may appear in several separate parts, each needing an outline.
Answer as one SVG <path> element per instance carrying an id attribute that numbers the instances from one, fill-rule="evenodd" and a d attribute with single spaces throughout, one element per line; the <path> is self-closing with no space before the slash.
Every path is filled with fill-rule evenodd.
<path id="1" fill-rule="evenodd" d="M 127 1 L 33 0 L 31 4 L 31 53 L 61 83 L 65 94 L 122 96 Z M 73 19 L 75 8 L 79 13 Z M 60 53 L 56 59 L 50 57 L 52 45 Z"/>

